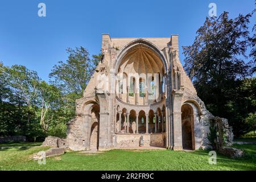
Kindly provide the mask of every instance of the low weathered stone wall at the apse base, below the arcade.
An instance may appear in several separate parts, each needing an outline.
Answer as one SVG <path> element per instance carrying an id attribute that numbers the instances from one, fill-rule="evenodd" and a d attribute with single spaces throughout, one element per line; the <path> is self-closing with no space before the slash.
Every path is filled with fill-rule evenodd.
<path id="1" fill-rule="evenodd" d="M 143 146 L 149 147 L 150 146 L 150 134 L 148 135 L 141 135 L 141 134 L 129 134 L 129 135 L 122 135 L 116 134 L 115 140 L 115 148 L 119 147 L 139 147 L 139 140 L 143 136 Z"/>

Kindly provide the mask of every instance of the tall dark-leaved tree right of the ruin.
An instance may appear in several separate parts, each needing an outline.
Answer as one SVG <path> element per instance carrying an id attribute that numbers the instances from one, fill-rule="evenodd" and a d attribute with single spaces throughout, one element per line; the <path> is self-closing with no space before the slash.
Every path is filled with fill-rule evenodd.
<path id="1" fill-rule="evenodd" d="M 183 47 L 184 68 L 199 97 L 209 111 L 228 118 L 232 126 L 241 118 L 234 121 L 229 112 L 230 104 L 236 102 L 236 88 L 245 77 L 251 75 L 251 66 L 245 61 L 250 44 L 250 17 L 251 14 L 240 14 L 237 18 L 229 19 L 228 13 L 224 12 L 218 18 L 207 18 L 197 30 L 192 46 Z M 240 134 L 238 130 L 234 133 Z"/>

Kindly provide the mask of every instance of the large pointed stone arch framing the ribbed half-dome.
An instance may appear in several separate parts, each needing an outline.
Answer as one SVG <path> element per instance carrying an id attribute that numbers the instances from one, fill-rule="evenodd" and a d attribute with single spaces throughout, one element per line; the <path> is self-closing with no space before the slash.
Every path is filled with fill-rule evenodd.
<path id="1" fill-rule="evenodd" d="M 136 40 L 133 40 L 132 42 L 128 43 L 125 47 L 123 47 L 121 49 L 121 51 L 119 51 L 119 54 L 117 55 L 117 59 L 115 61 L 115 67 L 114 67 L 115 73 L 118 73 L 119 65 L 120 65 L 123 57 L 126 55 L 126 53 L 129 52 L 129 50 L 131 48 L 138 46 L 138 45 L 146 46 L 148 49 L 151 49 L 152 51 L 154 51 L 156 53 L 156 55 L 158 55 L 160 57 L 160 59 L 162 60 L 162 63 L 164 65 L 164 71 L 165 72 L 168 71 L 167 60 L 164 57 L 163 52 L 160 51 L 160 49 L 157 46 L 155 46 L 155 44 L 149 42 L 148 40 L 136 39 Z"/>

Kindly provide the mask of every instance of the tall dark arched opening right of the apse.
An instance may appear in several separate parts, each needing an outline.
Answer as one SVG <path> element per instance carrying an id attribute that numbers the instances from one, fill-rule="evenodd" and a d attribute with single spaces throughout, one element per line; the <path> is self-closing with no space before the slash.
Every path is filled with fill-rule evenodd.
<path id="1" fill-rule="evenodd" d="M 182 147 L 195 150 L 194 109 L 190 104 L 181 106 Z"/>

